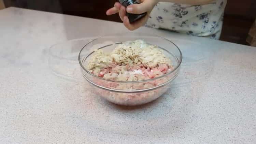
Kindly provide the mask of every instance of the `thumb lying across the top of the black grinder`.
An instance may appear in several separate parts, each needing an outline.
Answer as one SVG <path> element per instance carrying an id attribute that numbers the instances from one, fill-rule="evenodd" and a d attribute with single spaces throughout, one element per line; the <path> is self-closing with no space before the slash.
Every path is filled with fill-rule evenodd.
<path id="1" fill-rule="evenodd" d="M 140 4 L 132 4 L 127 6 L 126 11 L 131 14 L 142 14 L 144 12 L 151 11 L 156 2 L 154 0 L 144 0 Z"/>

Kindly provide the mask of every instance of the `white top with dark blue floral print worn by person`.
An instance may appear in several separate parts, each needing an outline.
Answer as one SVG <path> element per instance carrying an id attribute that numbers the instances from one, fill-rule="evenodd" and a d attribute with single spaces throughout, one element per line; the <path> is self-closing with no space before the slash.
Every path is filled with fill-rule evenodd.
<path id="1" fill-rule="evenodd" d="M 216 0 L 205 5 L 159 2 L 145 26 L 219 39 L 226 3 L 227 0 Z"/>

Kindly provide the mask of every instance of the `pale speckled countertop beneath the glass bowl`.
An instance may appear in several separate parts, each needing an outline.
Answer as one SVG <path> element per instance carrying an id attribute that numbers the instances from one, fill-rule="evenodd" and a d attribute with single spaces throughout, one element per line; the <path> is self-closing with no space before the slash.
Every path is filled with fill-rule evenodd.
<path id="1" fill-rule="evenodd" d="M 122 24 L 0 10 L 0 143 L 256 143 L 255 47 L 137 31 L 175 42 L 184 63 L 165 95 L 123 107 L 93 95 L 82 76 L 67 78 L 74 72 L 56 74 L 48 51 L 61 41 L 127 32 Z"/>

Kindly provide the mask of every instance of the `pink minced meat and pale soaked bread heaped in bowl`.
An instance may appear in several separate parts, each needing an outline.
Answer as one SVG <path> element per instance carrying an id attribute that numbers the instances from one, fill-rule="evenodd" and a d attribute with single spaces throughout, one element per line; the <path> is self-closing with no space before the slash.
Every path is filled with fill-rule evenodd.
<path id="1" fill-rule="evenodd" d="M 172 66 L 158 46 L 136 40 L 118 44 L 111 53 L 95 50 L 87 69 L 109 80 L 142 81 L 166 74 Z"/>

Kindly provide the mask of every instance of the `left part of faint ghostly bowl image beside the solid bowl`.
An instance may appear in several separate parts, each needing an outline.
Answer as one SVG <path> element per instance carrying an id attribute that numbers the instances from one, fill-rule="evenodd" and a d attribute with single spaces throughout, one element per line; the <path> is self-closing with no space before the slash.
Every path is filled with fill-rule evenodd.
<path id="1" fill-rule="evenodd" d="M 49 48 L 48 66 L 52 73 L 65 80 L 81 82 L 81 72 L 77 56 L 81 47 L 96 38 L 69 40 L 51 46 Z"/>

